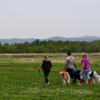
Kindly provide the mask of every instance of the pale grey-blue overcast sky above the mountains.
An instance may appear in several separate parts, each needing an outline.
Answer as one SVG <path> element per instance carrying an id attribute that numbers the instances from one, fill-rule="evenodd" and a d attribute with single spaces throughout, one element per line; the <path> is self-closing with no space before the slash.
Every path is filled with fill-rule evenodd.
<path id="1" fill-rule="evenodd" d="M 0 0 L 0 39 L 100 37 L 100 0 Z"/>

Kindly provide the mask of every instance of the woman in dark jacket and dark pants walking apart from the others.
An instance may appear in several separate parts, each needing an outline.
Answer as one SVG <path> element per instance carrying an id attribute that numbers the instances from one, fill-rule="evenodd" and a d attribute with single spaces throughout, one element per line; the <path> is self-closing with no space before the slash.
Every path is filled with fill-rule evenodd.
<path id="1" fill-rule="evenodd" d="M 43 60 L 42 66 L 39 68 L 39 70 L 42 68 L 45 76 L 45 84 L 49 85 L 50 82 L 48 80 L 48 74 L 50 73 L 50 69 L 52 67 L 51 61 L 48 60 L 47 56 L 44 56 L 45 60 Z"/>

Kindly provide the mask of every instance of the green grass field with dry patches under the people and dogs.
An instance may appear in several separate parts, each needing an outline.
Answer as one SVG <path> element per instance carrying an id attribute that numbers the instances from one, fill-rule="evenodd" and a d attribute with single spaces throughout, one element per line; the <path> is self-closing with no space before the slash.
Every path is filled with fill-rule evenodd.
<path id="1" fill-rule="evenodd" d="M 35 68 L 40 67 L 44 55 L 52 62 L 48 76 L 50 85 L 44 84 L 44 75 Z M 77 69 L 81 70 L 81 54 L 75 57 Z M 91 70 L 100 73 L 100 53 L 88 54 Z M 59 75 L 63 71 L 66 54 L 0 54 L 0 100 L 100 100 L 100 84 L 76 83 L 62 85 Z M 77 81 L 79 82 L 79 81 Z"/>

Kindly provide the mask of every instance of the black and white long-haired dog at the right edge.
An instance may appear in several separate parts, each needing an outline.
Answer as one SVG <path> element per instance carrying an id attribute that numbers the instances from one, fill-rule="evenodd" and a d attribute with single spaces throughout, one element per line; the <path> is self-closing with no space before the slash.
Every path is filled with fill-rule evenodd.
<path id="1" fill-rule="evenodd" d="M 100 74 L 97 71 L 90 71 L 90 79 L 93 82 L 93 84 L 100 83 Z M 88 79 L 86 79 L 86 84 L 88 83 Z"/>

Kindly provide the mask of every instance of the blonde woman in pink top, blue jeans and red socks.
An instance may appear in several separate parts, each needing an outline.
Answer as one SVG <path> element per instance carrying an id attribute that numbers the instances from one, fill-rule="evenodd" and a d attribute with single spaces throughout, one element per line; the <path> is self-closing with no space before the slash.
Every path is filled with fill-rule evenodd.
<path id="1" fill-rule="evenodd" d="M 81 76 L 80 76 L 80 83 L 78 83 L 78 85 L 81 85 L 81 84 L 82 84 L 84 74 L 86 75 L 89 84 L 91 84 L 91 80 L 90 80 L 90 76 L 89 76 L 90 66 L 89 66 L 89 60 L 88 60 L 88 58 L 87 58 L 86 53 L 82 53 L 82 60 L 81 60 L 81 63 L 82 63 L 82 69 L 83 69 L 83 71 L 82 71 L 82 73 L 81 73 Z"/>

